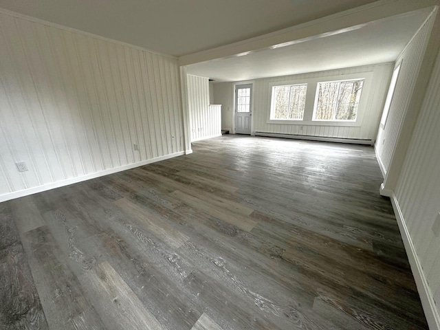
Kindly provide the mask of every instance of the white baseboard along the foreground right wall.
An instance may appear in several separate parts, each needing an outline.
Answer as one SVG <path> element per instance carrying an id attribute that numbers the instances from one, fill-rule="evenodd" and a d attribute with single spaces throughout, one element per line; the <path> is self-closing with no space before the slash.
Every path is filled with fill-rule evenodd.
<path id="1" fill-rule="evenodd" d="M 406 254 L 408 255 L 408 261 L 410 262 L 412 275 L 414 276 L 415 284 L 417 285 L 417 291 L 419 292 L 421 305 L 423 307 L 423 311 L 425 312 L 429 329 L 440 330 L 439 312 L 437 311 L 437 307 L 434 303 L 434 297 L 432 296 L 428 281 L 426 281 L 426 276 L 421 267 L 415 246 L 412 243 L 410 232 L 404 219 L 404 214 L 401 212 L 399 201 L 397 201 L 397 197 L 394 192 L 391 192 L 391 203 L 393 204 L 401 238 L 404 241 Z"/>

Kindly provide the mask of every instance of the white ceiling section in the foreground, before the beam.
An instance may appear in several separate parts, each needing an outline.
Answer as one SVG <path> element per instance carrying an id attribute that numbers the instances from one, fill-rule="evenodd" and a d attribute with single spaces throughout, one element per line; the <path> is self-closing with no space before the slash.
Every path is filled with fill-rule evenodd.
<path id="1" fill-rule="evenodd" d="M 0 8 L 155 52 L 192 54 L 375 0 L 0 0 Z"/>

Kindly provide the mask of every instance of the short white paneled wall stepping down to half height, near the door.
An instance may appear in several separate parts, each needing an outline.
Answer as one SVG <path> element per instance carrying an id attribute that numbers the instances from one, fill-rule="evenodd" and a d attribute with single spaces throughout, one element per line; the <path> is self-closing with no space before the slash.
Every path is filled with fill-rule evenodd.
<path id="1" fill-rule="evenodd" d="M 188 74 L 191 142 L 221 135 L 221 106 L 210 107 L 209 80 Z"/>

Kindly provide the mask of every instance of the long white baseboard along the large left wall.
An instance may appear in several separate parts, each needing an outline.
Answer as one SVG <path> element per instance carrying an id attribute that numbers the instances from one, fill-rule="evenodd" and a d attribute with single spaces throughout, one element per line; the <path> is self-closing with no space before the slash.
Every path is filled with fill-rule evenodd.
<path id="1" fill-rule="evenodd" d="M 192 150 L 190 150 L 192 153 Z M 165 160 L 165 159 L 169 159 L 169 158 L 173 158 L 173 157 L 177 157 L 177 156 L 181 156 L 181 155 L 185 155 L 188 151 L 179 151 L 178 153 L 170 153 L 169 155 L 164 155 L 161 157 L 155 157 L 152 159 L 146 159 L 146 160 L 142 160 L 142 162 L 136 162 L 133 164 L 127 164 L 124 166 L 118 166 L 118 167 L 114 167 L 114 168 L 109 168 L 107 170 L 101 170 L 99 172 L 96 173 L 90 173 L 87 175 L 81 175 L 80 177 L 72 177 L 69 179 L 65 179 L 62 181 L 56 181 L 56 182 L 51 182 L 50 184 L 43 184 L 41 186 L 36 186 L 36 187 L 32 187 L 32 188 L 27 188 L 27 189 L 23 189 L 23 190 L 18 190 L 18 191 L 14 191 L 14 192 L 8 192 L 6 194 L 0 195 L 0 202 L 2 201 L 9 201 L 10 199 L 16 199 L 19 197 L 24 197 L 24 196 L 28 196 L 28 195 L 33 195 L 36 194 L 37 192 L 43 192 L 46 190 L 51 190 L 54 188 L 60 188 L 63 186 L 69 186 L 69 184 L 76 184 L 78 182 L 81 181 L 86 181 L 89 179 L 95 179 L 96 177 L 102 177 L 104 175 L 109 175 L 109 174 L 113 174 L 113 173 L 117 173 L 117 172 L 121 172 L 122 170 L 129 170 L 131 168 L 135 168 L 135 167 L 139 167 L 139 166 L 144 166 L 146 164 L 151 164 L 151 163 L 155 163 L 155 162 L 160 162 L 161 160 Z"/>

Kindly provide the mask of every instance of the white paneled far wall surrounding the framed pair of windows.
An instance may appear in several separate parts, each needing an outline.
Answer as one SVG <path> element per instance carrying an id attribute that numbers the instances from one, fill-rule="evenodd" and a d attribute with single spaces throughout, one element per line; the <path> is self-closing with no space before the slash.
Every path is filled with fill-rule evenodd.
<path id="1" fill-rule="evenodd" d="M 327 76 L 343 76 L 345 74 L 358 74 L 373 72 L 372 89 L 366 105 L 366 111 L 362 122 L 358 127 L 350 126 L 318 126 L 298 124 L 268 124 L 267 113 L 270 111 L 271 84 L 283 83 L 289 80 L 309 78 L 325 78 Z M 316 137 L 338 137 L 348 139 L 374 140 L 377 134 L 386 86 L 391 78 L 391 64 L 369 65 L 364 67 L 351 67 L 347 69 L 330 70 L 325 72 L 313 72 L 297 74 L 294 76 L 282 76 L 276 78 L 264 78 L 255 80 L 254 83 L 254 129 L 253 131 L 265 133 L 281 133 L 294 135 L 310 135 Z M 303 130 L 300 130 L 303 126 Z"/>

